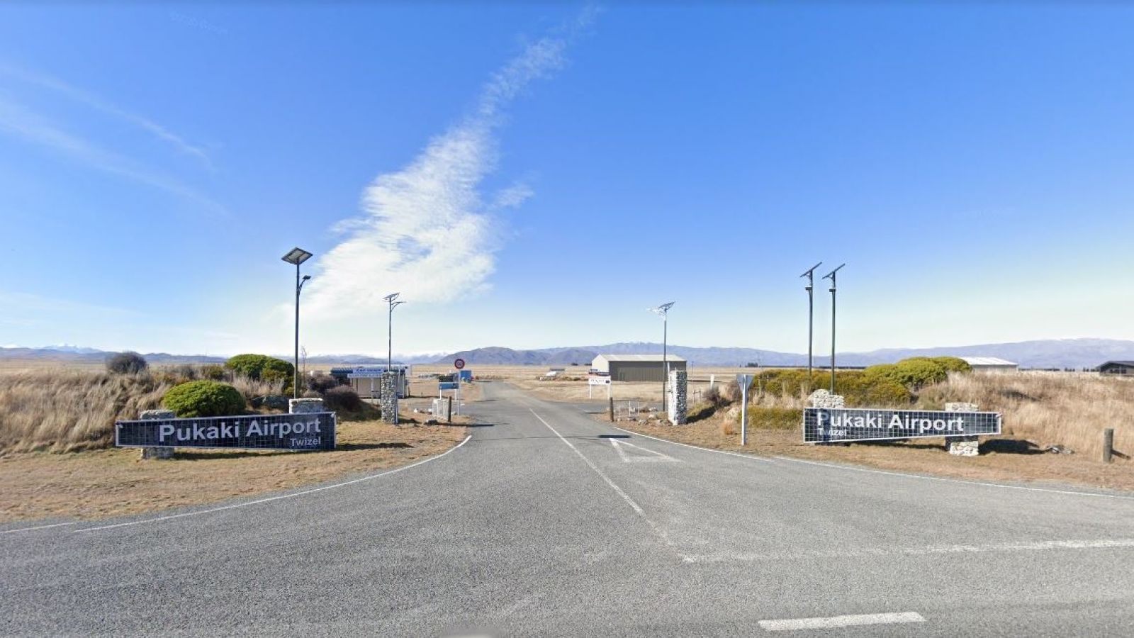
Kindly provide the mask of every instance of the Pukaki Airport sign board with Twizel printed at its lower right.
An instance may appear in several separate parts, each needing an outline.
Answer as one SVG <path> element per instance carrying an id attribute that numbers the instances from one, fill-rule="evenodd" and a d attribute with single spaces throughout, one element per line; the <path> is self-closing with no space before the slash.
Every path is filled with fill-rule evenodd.
<path id="1" fill-rule="evenodd" d="M 335 412 L 118 421 L 118 447 L 335 450 Z"/>

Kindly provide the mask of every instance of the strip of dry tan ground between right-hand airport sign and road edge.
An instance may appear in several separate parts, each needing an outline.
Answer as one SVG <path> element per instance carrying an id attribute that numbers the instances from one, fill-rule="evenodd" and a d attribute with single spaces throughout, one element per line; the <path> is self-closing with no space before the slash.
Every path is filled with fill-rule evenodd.
<path id="1" fill-rule="evenodd" d="M 596 415 L 606 421 L 606 417 Z M 608 421 L 609 422 L 609 421 Z M 792 456 L 813 461 L 855 463 L 886 470 L 995 481 L 1051 481 L 1110 489 L 1134 490 L 1134 462 L 1116 459 L 1105 464 L 1085 454 L 1052 454 L 1023 439 L 982 437 L 980 456 L 954 456 L 945 439 L 921 438 L 903 443 L 853 443 L 807 445 L 797 429 L 750 429 L 748 445 L 741 447 L 739 426 L 723 415 L 686 426 L 620 421 L 632 431 L 689 445 L 748 452 L 763 456 Z M 736 431 L 737 434 L 725 434 Z"/>

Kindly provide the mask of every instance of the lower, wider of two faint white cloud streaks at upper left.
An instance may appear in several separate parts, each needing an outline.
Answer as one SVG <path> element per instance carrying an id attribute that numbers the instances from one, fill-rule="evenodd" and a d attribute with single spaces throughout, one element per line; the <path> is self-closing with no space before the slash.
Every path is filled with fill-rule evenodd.
<path id="1" fill-rule="evenodd" d="M 99 170 L 194 200 L 213 211 L 223 210 L 219 203 L 194 188 L 174 178 L 145 169 L 126 157 L 100 149 L 91 142 L 64 131 L 56 123 L 3 98 L 0 98 L 0 133 L 50 148 Z"/>

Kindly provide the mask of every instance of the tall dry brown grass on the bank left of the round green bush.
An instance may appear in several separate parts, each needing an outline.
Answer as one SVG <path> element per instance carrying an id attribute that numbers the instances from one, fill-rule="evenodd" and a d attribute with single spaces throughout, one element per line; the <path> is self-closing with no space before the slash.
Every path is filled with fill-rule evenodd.
<path id="1" fill-rule="evenodd" d="M 0 379 L 0 451 L 105 447 L 115 421 L 159 408 L 172 387 L 142 372 L 41 369 Z"/>

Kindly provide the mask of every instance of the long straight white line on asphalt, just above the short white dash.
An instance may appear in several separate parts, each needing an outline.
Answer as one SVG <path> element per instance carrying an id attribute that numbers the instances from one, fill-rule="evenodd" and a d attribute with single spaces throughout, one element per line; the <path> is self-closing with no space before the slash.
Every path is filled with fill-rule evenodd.
<path id="1" fill-rule="evenodd" d="M 760 561 L 794 561 L 806 559 L 861 559 L 868 556 L 928 556 L 937 554 L 980 554 L 1002 552 L 1042 552 L 1048 549 L 1116 549 L 1134 548 L 1134 538 L 1103 538 L 1097 540 L 1035 540 L 990 545 L 938 545 L 926 547 L 883 548 L 860 547 L 823 552 L 784 554 L 682 554 L 686 563 L 744 563 Z"/>

